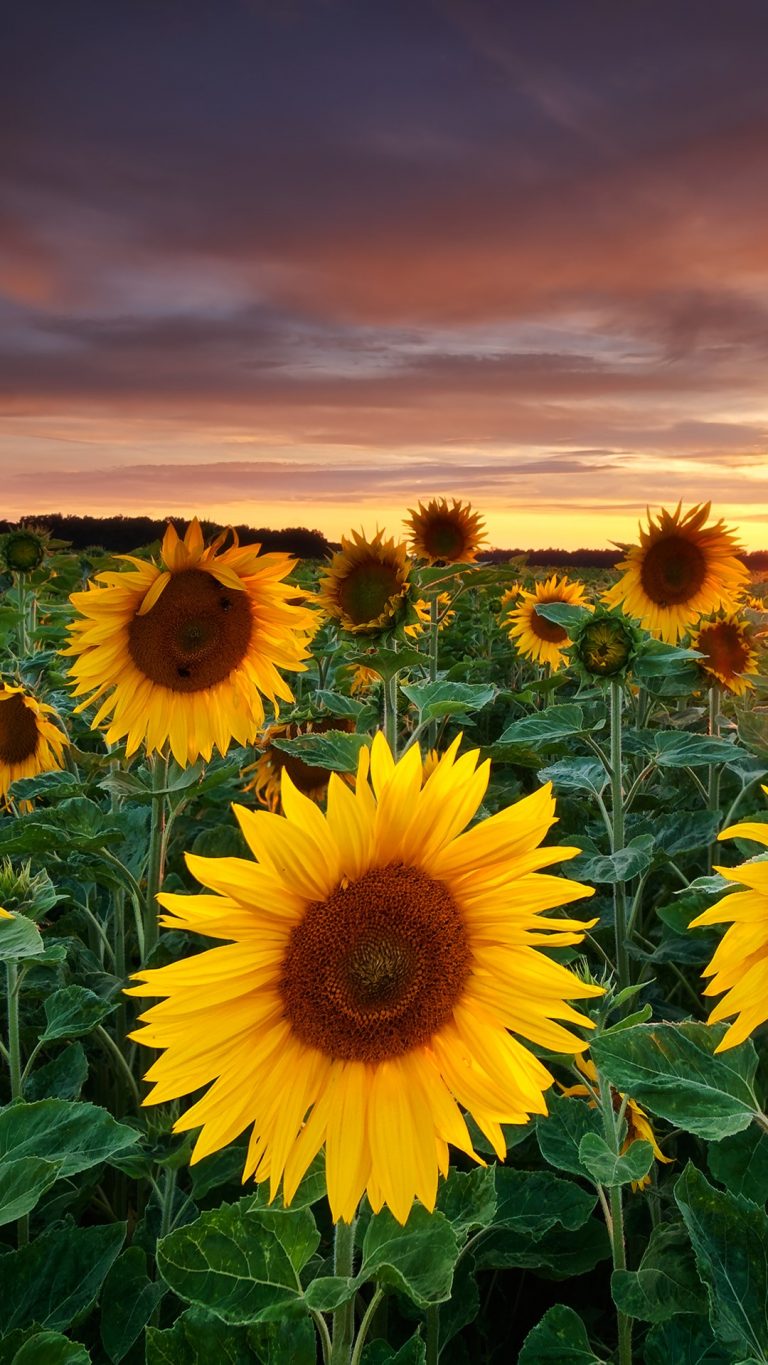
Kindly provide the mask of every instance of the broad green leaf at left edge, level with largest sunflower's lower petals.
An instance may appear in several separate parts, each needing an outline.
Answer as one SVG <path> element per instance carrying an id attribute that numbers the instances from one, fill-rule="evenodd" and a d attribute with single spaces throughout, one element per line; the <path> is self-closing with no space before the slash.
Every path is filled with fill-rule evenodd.
<path id="1" fill-rule="evenodd" d="M 41 1156 L 60 1163 L 60 1175 L 76 1175 L 109 1160 L 138 1141 L 138 1132 L 117 1123 L 95 1104 L 35 1100 L 0 1110 L 0 1156 Z"/>

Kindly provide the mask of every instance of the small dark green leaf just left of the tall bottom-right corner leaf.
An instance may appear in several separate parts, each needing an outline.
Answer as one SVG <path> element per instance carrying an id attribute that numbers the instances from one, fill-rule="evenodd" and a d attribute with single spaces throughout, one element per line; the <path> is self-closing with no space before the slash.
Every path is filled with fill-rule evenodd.
<path id="1" fill-rule="evenodd" d="M 705 1313 L 707 1297 L 685 1227 L 659 1223 L 636 1271 L 614 1271 L 617 1308 L 645 1323 L 663 1323 L 678 1313 Z"/>

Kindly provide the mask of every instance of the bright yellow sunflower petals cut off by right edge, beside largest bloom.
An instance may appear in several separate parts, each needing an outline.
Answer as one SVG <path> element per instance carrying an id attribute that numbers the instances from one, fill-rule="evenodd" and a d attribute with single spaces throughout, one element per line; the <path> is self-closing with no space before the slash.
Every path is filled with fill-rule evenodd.
<path id="1" fill-rule="evenodd" d="M 768 786 L 763 790 L 768 796 Z M 745 822 L 731 824 L 719 839 L 754 839 L 768 848 L 768 824 Z M 712 980 L 705 995 L 723 995 L 709 1014 L 709 1024 L 735 1014 L 716 1052 L 738 1047 L 768 1020 L 768 863 L 741 863 L 738 867 L 715 868 L 728 882 L 742 887 L 690 921 L 689 928 L 704 924 L 730 924 L 709 965 L 701 973 Z"/>

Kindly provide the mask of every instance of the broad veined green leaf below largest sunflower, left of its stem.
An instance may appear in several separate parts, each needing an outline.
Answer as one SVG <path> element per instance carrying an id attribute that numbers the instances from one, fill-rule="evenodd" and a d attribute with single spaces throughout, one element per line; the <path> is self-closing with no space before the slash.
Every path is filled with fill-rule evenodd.
<path id="1" fill-rule="evenodd" d="M 225 1323 L 280 1321 L 301 1309 L 291 1257 L 247 1200 L 222 1204 L 164 1237 L 157 1265 L 179 1298 Z"/>

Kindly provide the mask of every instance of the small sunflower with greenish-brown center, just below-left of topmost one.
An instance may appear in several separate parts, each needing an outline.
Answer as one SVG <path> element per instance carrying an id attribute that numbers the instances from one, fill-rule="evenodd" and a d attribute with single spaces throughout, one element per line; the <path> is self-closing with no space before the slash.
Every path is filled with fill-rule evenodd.
<path id="1" fill-rule="evenodd" d="M 341 550 L 319 581 L 321 607 L 352 635 L 389 631 L 405 616 L 411 573 L 405 543 L 383 535 L 376 531 L 372 541 L 361 531 L 342 535 Z"/>

